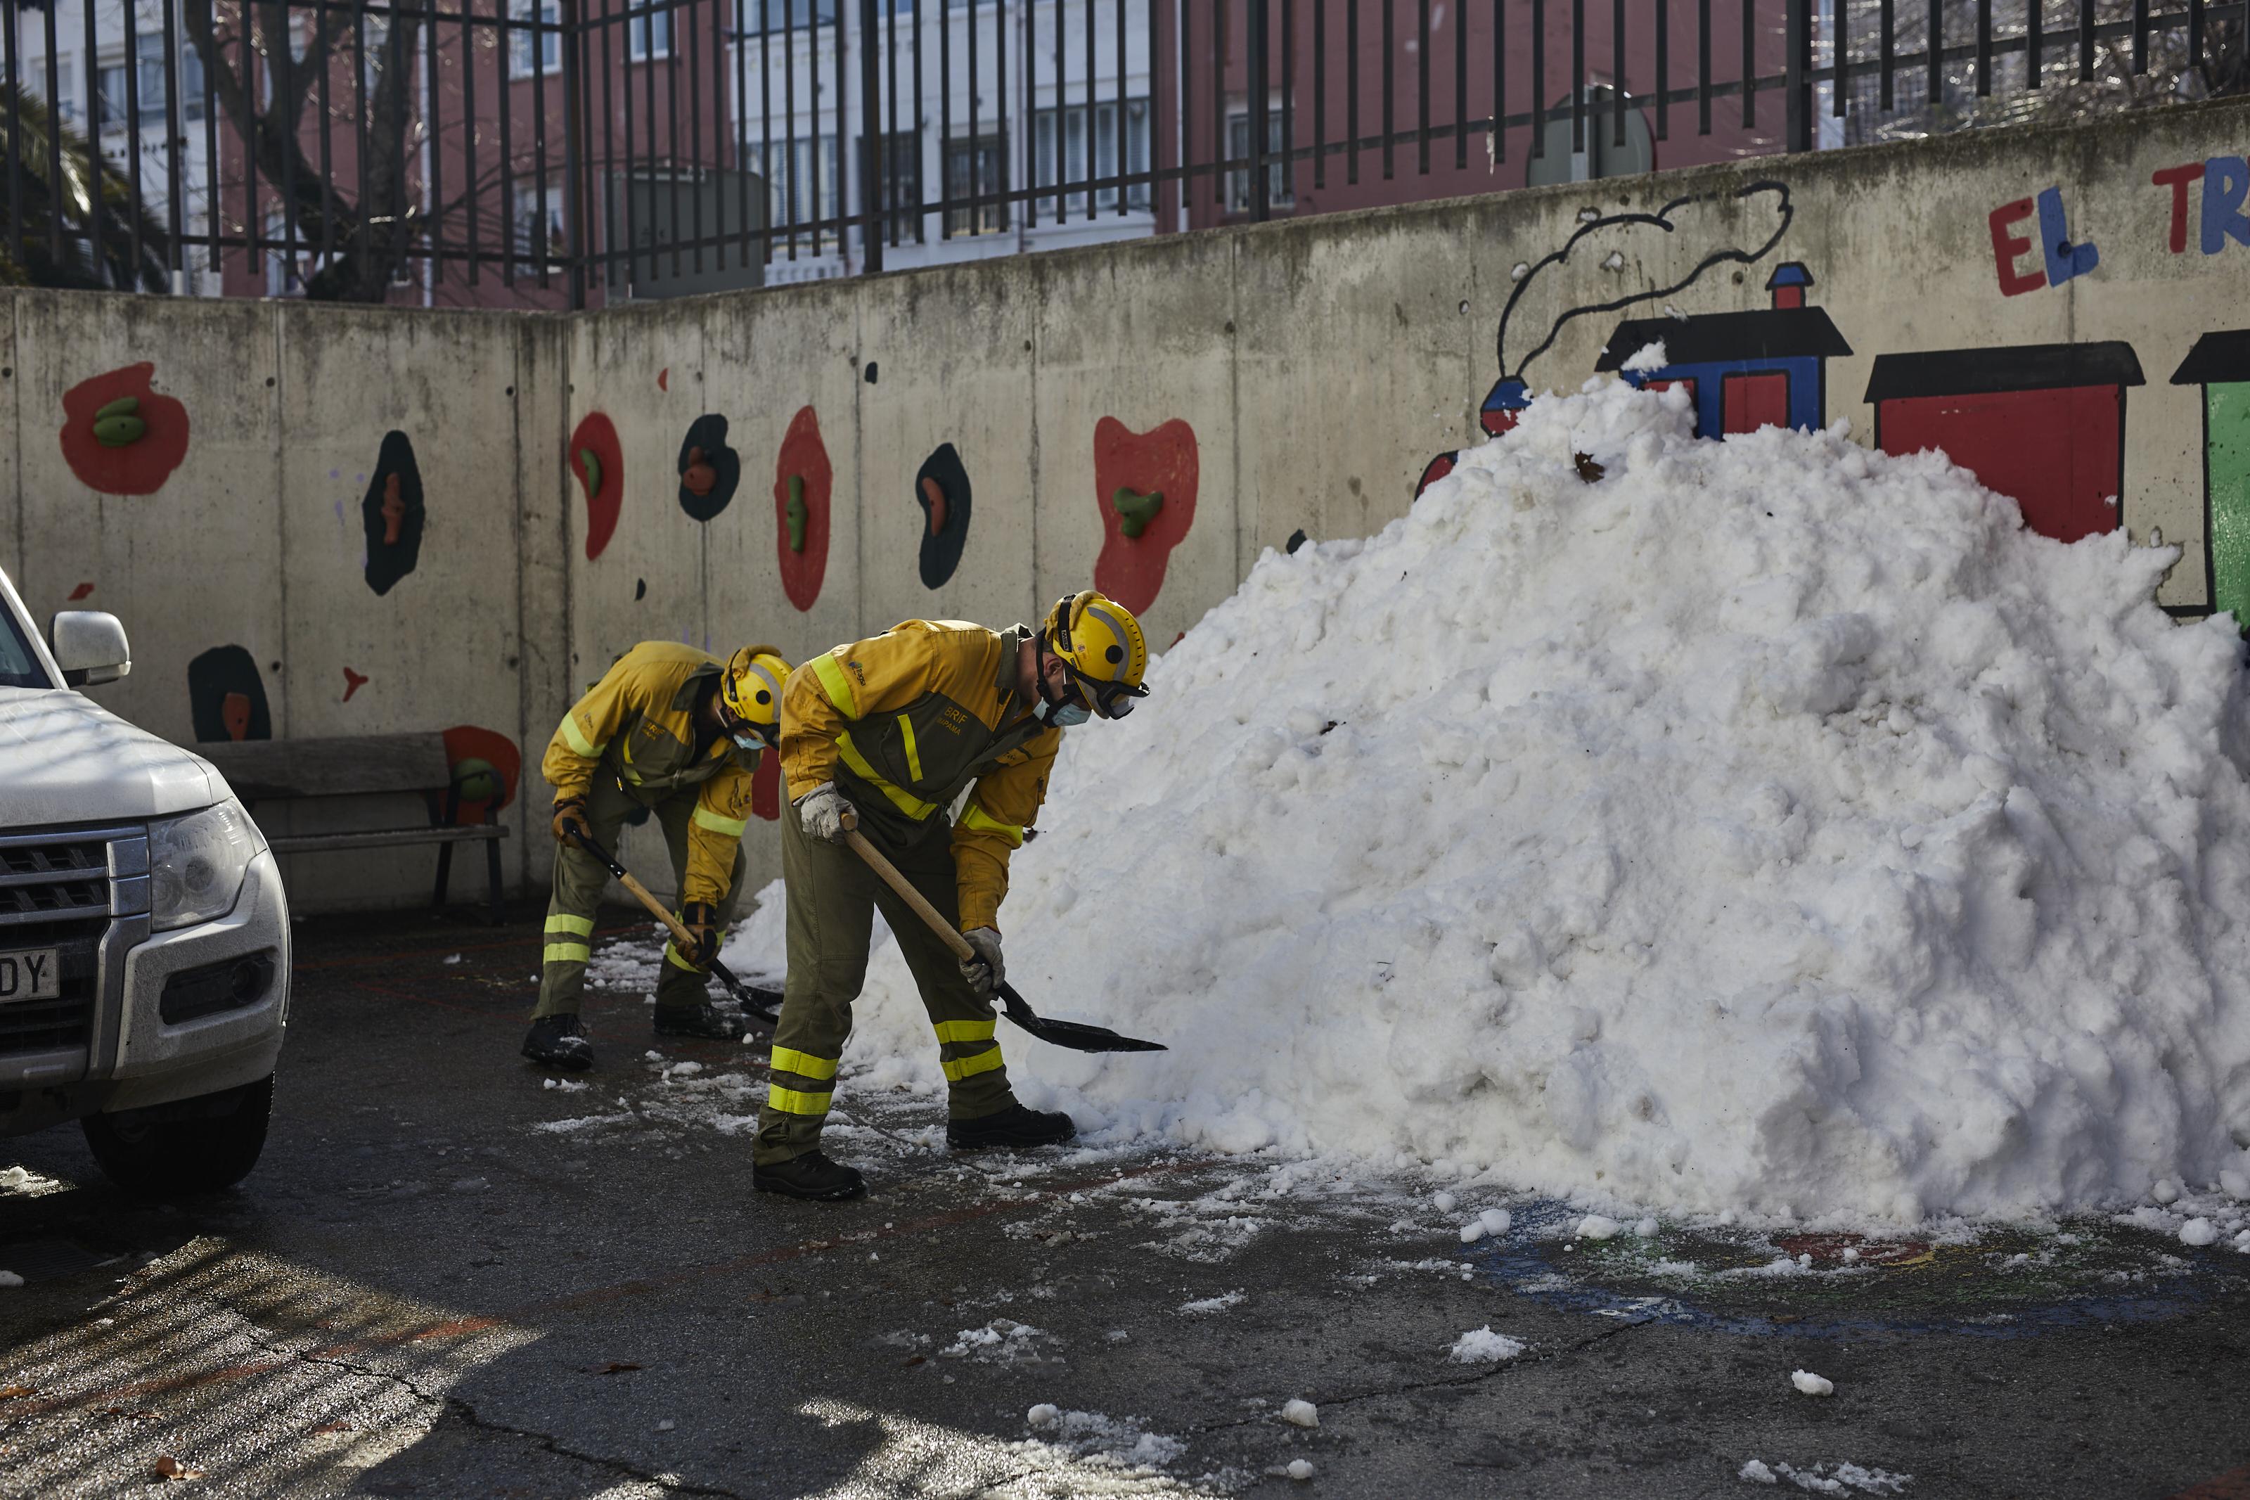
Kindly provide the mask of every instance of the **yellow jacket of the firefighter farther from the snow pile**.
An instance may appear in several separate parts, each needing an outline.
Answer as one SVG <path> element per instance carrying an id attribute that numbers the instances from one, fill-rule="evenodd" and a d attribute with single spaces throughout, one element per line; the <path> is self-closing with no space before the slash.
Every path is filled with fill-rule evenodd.
<path id="1" fill-rule="evenodd" d="M 585 796 L 596 776 L 614 778 L 648 805 L 684 787 L 702 787 L 688 816 L 682 904 L 716 904 L 727 895 L 758 769 L 758 751 L 745 751 L 727 735 L 718 735 L 702 758 L 695 756 L 695 708 L 718 686 L 720 670 L 724 663 L 718 657 L 693 645 L 641 641 L 572 704 L 540 760 L 558 803 Z"/>

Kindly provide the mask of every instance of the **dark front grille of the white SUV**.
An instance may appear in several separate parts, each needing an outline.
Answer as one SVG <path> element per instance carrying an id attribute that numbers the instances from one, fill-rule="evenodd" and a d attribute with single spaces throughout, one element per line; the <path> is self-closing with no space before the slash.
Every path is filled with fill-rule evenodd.
<path id="1" fill-rule="evenodd" d="M 0 1005 L 0 1055 L 92 1046 L 115 837 L 122 830 L 0 837 L 0 949 L 56 949 L 63 990 Z"/>

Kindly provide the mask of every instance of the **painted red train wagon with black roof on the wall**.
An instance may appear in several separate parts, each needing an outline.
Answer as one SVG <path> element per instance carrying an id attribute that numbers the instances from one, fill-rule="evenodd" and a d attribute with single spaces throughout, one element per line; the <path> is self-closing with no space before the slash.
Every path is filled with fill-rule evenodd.
<path id="1" fill-rule="evenodd" d="M 2012 495 L 2023 524 L 2077 542 L 2124 524 L 2124 394 L 2133 346 L 2016 344 L 1876 355 L 1874 445 L 1937 448 Z"/>

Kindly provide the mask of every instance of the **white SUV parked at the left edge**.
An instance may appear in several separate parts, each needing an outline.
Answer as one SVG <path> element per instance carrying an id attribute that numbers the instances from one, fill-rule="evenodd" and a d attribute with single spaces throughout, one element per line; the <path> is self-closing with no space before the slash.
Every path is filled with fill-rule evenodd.
<path id="1" fill-rule="evenodd" d="M 81 1120 L 142 1194 L 241 1181 L 288 1021 L 281 870 L 200 756 L 97 708 L 115 616 L 38 639 L 0 571 L 0 1136 Z"/>

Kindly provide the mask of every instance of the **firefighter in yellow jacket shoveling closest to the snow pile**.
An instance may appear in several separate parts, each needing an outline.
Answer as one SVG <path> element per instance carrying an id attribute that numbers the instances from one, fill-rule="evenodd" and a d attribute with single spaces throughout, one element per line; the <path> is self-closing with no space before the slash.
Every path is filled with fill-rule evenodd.
<path id="1" fill-rule="evenodd" d="M 819 1138 L 875 909 L 938 1034 L 952 1095 L 945 1140 L 954 1149 L 1035 1147 L 1076 1133 L 1069 1115 L 1026 1109 L 1008 1088 L 992 1034 L 992 996 L 1006 976 L 999 904 L 1008 855 L 1046 798 L 1062 729 L 1130 713 L 1148 693 L 1145 670 L 1141 623 L 1089 589 L 1062 598 L 1040 630 L 907 621 L 790 675 L 781 695 L 790 978 L 752 1154 L 760 1192 L 853 1199 L 866 1190 L 853 1167 L 819 1151 Z M 842 843 L 846 812 L 958 924 L 974 960 L 956 963 Z"/>

